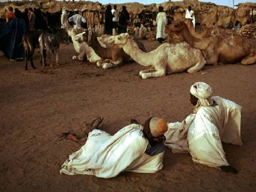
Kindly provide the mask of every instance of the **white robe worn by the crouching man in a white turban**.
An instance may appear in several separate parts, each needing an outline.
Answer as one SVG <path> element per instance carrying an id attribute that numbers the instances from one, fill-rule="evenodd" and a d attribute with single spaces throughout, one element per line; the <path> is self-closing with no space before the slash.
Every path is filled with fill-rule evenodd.
<path id="1" fill-rule="evenodd" d="M 200 107 L 183 122 L 168 124 L 166 145 L 173 152 L 189 152 L 193 161 L 207 166 L 228 165 L 221 141 L 243 145 L 241 106 L 221 97 L 212 97 L 214 106 Z"/>

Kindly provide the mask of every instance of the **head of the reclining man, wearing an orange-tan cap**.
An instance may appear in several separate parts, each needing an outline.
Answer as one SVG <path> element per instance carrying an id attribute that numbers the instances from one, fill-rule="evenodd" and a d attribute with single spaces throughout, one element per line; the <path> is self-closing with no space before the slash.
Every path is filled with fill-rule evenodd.
<path id="1" fill-rule="evenodd" d="M 143 134 L 148 139 L 150 145 L 156 145 L 164 141 L 164 132 L 167 129 L 167 123 L 163 118 L 150 117 L 144 124 Z"/>

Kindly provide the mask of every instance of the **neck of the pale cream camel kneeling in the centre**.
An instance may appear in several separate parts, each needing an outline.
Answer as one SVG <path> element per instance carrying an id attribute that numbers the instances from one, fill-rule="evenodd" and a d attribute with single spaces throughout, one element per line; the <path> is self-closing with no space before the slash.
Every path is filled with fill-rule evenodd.
<path id="1" fill-rule="evenodd" d="M 151 62 L 156 55 L 150 54 L 150 52 L 143 52 L 140 50 L 136 42 L 131 38 L 127 39 L 127 43 L 122 45 L 124 52 L 131 56 L 132 60 L 136 61 L 140 65 L 148 67 L 151 65 Z"/>

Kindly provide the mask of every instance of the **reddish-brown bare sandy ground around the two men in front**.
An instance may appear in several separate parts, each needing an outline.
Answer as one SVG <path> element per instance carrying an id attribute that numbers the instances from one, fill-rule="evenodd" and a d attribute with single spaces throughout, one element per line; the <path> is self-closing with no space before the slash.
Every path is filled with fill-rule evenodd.
<path id="1" fill-rule="evenodd" d="M 148 50 L 158 44 L 144 42 Z M 0 58 L 0 191 L 255 191 L 256 65 L 207 66 L 196 74 L 182 72 L 140 79 L 137 63 L 104 70 L 88 61 L 72 61 L 74 47 L 61 45 L 60 67 L 24 70 L 24 62 Z M 81 132 L 95 116 L 101 129 L 114 134 L 130 118 L 144 122 L 162 116 L 183 120 L 193 111 L 189 88 L 196 81 L 212 86 L 213 95 L 243 107 L 242 147 L 223 144 L 237 168 L 232 175 L 193 163 L 189 154 L 166 148 L 157 173 L 124 172 L 113 179 L 60 175 L 61 164 L 85 141 L 56 141 L 64 131 Z"/>

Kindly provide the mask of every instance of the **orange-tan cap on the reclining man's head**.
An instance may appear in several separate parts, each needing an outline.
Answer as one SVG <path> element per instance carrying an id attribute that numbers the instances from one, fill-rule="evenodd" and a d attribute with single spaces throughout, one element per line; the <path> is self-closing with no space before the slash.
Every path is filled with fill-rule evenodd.
<path id="1" fill-rule="evenodd" d="M 154 136 L 154 138 L 157 138 L 163 135 L 168 128 L 167 123 L 163 118 L 153 117 L 149 122 L 149 129 L 152 136 Z"/>

